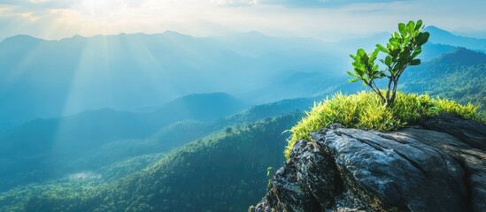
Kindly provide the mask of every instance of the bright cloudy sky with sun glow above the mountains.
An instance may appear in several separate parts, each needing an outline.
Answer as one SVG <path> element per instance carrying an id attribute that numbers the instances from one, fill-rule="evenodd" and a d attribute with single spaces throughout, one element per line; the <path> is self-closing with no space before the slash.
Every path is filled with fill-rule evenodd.
<path id="1" fill-rule="evenodd" d="M 258 31 L 324 41 L 396 30 L 398 22 L 486 37 L 482 0 L 0 0 L 0 41 L 16 34 L 194 36 Z"/>

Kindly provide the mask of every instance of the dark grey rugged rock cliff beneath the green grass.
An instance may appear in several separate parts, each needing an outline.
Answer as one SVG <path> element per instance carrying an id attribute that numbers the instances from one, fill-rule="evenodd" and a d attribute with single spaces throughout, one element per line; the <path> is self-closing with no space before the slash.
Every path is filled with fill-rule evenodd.
<path id="1" fill-rule="evenodd" d="M 448 114 L 398 132 L 299 140 L 256 211 L 484 211 L 486 127 Z"/>

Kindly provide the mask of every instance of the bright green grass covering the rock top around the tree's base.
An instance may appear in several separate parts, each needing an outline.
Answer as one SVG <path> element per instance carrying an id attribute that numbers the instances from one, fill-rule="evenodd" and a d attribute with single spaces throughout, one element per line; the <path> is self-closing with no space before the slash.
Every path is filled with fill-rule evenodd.
<path id="1" fill-rule="evenodd" d="M 387 108 L 380 97 L 372 92 L 336 94 L 323 102 L 314 102 L 313 109 L 306 112 L 307 116 L 289 130 L 292 137 L 285 149 L 285 157 L 289 159 L 297 140 L 311 140 L 310 133 L 333 123 L 340 123 L 347 128 L 387 132 L 416 123 L 420 117 L 438 116 L 440 112 L 486 123 L 486 118 L 478 115 L 477 110 L 471 103 L 461 105 L 438 97 L 431 98 L 429 95 L 397 92 L 395 103 Z"/>

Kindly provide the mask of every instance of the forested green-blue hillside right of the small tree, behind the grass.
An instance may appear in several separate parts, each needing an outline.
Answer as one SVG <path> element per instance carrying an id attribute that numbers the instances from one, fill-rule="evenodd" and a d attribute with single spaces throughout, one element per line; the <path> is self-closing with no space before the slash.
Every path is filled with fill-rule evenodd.
<path id="1" fill-rule="evenodd" d="M 486 55 L 458 49 L 404 73 L 404 92 L 438 95 L 486 110 Z"/>

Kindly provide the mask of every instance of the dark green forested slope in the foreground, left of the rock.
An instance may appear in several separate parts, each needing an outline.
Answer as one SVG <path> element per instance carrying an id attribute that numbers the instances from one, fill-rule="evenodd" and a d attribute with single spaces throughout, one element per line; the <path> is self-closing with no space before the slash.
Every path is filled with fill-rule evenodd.
<path id="1" fill-rule="evenodd" d="M 266 192 L 267 168 L 283 162 L 289 134 L 282 132 L 302 115 L 228 127 L 112 183 L 73 178 L 12 190 L 0 195 L 0 210 L 244 211 Z"/>

